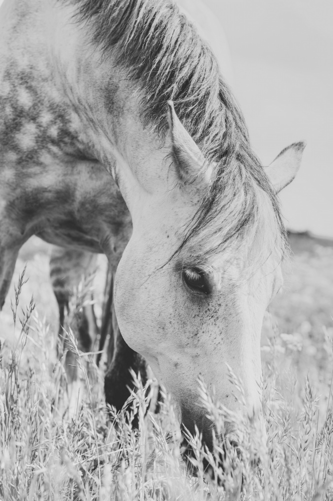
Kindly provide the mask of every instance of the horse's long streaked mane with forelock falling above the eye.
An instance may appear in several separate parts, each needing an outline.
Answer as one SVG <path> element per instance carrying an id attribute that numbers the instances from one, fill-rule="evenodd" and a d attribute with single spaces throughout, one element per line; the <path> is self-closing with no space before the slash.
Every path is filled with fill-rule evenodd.
<path id="1" fill-rule="evenodd" d="M 112 55 L 137 83 L 144 126 L 165 136 L 172 100 L 207 163 L 214 162 L 212 181 L 178 250 L 190 245 L 199 261 L 232 242 L 249 248 L 261 235 L 259 254 L 266 247 L 267 256 L 275 249 L 282 259 L 288 247 L 278 198 L 214 55 L 177 5 L 172 0 L 67 1 L 76 5 L 81 22 L 92 23 L 103 55 Z"/>

